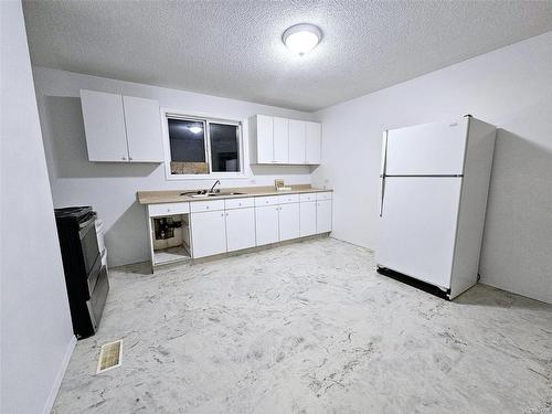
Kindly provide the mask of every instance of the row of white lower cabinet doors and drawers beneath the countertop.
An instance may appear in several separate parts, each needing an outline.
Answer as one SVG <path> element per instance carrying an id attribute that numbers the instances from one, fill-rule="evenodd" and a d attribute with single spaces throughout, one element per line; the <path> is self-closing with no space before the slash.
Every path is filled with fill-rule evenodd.
<path id="1" fill-rule="evenodd" d="M 199 258 L 330 232 L 331 202 L 330 192 L 209 200 L 185 203 L 185 211 L 184 203 L 151 205 L 149 215 L 190 211 L 192 257 Z"/>

